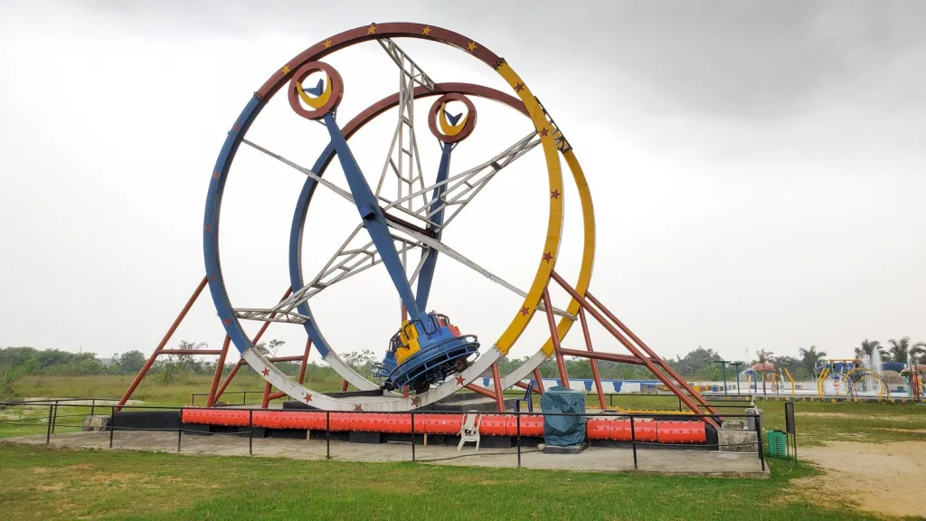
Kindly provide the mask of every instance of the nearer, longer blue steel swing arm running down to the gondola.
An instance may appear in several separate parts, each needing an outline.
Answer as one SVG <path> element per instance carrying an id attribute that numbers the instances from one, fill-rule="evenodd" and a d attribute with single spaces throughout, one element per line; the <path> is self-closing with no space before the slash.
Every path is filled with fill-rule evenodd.
<path id="1" fill-rule="evenodd" d="M 402 299 L 408 313 L 413 317 L 423 319 L 427 315 L 422 315 L 422 312 L 419 311 L 411 286 L 408 284 L 405 266 L 402 265 L 402 260 L 399 259 L 399 254 L 395 250 L 393 237 L 389 233 L 389 226 L 386 224 L 386 218 L 382 214 L 380 204 L 376 196 L 373 195 L 373 191 L 369 188 L 367 179 L 363 176 L 363 172 L 360 171 L 357 159 L 354 159 L 354 154 L 351 152 L 350 146 L 347 145 L 347 140 L 344 139 L 341 129 L 334 122 L 334 116 L 331 112 L 325 114 L 324 121 L 325 126 L 328 127 L 328 133 L 332 137 L 332 144 L 337 152 L 338 160 L 341 161 L 344 177 L 347 178 L 347 184 L 354 195 L 354 204 L 357 205 L 357 210 L 363 219 L 363 225 L 369 232 L 369 237 L 373 240 L 373 244 L 380 254 L 382 264 L 386 267 L 386 271 L 389 272 L 390 278 L 393 279 L 395 290 L 398 291 L 399 298 Z"/>

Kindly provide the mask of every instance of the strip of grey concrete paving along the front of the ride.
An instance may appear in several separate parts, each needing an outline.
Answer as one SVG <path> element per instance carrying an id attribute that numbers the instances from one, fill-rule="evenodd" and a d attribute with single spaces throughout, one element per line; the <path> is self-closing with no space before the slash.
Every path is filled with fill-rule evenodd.
<path id="1" fill-rule="evenodd" d="M 44 445 L 45 436 L 6 438 L 5 443 Z M 75 432 L 56 434 L 51 445 L 55 447 L 96 448 L 109 447 L 108 432 Z M 177 451 L 175 432 L 116 432 L 114 449 L 132 451 Z M 401 462 L 411 460 L 410 444 L 362 444 L 333 441 L 333 459 L 358 462 Z M 248 438 L 238 436 L 197 436 L 184 434 L 181 453 L 243 456 L 248 454 Z M 416 459 L 433 464 L 457 464 L 485 467 L 512 467 L 518 464 L 515 449 L 480 449 L 472 444 L 463 451 L 456 447 L 421 446 L 415 448 Z M 324 440 L 255 438 L 254 454 L 295 459 L 318 460 L 326 457 Z M 681 451 L 666 449 L 639 449 L 639 470 L 673 475 L 769 477 L 762 471 L 755 452 Z M 630 449 L 590 448 L 580 454 L 544 454 L 536 449 L 521 449 L 521 466 L 536 469 L 587 470 L 596 472 L 633 470 L 633 452 Z"/>

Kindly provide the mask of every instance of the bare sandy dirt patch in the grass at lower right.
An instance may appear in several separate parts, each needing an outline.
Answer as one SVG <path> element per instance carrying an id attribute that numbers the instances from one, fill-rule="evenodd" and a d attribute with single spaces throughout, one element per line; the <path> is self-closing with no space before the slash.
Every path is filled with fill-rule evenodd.
<path id="1" fill-rule="evenodd" d="M 826 471 L 796 482 L 800 493 L 810 499 L 843 496 L 884 515 L 926 516 L 924 441 L 882 445 L 834 441 L 826 447 L 802 449 L 798 455 Z"/>

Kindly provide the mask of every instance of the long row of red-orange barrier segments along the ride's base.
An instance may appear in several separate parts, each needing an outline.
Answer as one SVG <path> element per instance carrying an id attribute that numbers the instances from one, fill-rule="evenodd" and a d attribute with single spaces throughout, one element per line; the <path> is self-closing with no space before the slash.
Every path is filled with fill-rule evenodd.
<path id="1" fill-rule="evenodd" d="M 411 433 L 411 413 L 324 413 L 316 411 L 242 411 L 221 409 L 183 409 L 187 424 L 248 426 L 284 429 L 299 428 L 329 432 Z M 586 422 L 589 439 L 653 443 L 707 443 L 707 427 L 702 422 L 678 420 L 640 420 L 590 418 Z M 457 436 L 462 414 L 415 413 L 415 432 Z M 520 424 L 520 425 L 519 425 Z M 544 436 L 542 414 L 482 414 L 479 432 L 483 436 Z"/>

